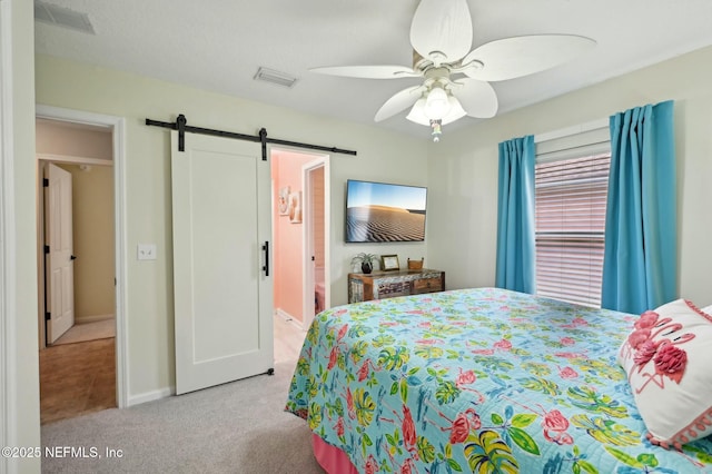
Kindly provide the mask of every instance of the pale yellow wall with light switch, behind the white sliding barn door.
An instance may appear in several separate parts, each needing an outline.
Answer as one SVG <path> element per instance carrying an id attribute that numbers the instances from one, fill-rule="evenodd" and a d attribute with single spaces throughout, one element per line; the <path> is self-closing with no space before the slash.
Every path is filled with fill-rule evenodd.
<path id="1" fill-rule="evenodd" d="M 353 255 L 426 255 L 421 243 L 344 244 L 346 179 L 425 185 L 427 149 L 422 140 L 41 55 L 36 56 L 36 69 L 38 103 L 126 118 L 129 398 L 174 385 L 169 134 L 147 127 L 146 118 L 171 121 L 177 113 L 185 113 L 188 124 L 198 127 L 249 135 L 265 127 L 273 138 L 358 151 L 356 157 L 333 155 L 330 161 L 330 285 L 335 305 L 347 300 L 346 274 Z M 137 261 L 138 243 L 156 243 L 157 260 Z"/>

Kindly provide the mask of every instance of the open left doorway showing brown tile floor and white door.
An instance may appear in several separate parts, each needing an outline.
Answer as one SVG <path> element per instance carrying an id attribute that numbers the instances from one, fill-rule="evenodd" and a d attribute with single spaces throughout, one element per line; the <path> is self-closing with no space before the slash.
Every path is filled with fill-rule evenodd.
<path id="1" fill-rule="evenodd" d="M 38 106 L 36 130 L 40 414 L 48 423 L 126 406 L 123 120 Z M 55 325 L 57 308 L 63 323 Z"/>

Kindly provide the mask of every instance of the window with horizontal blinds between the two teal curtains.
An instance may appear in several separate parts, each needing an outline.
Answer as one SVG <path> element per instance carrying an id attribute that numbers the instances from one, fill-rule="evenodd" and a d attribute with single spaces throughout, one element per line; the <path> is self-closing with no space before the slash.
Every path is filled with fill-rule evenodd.
<path id="1" fill-rule="evenodd" d="M 604 138 L 585 146 L 537 146 L 534 182 L 540 296 L 601 307 L 611 165 L 605 131 Z"/>

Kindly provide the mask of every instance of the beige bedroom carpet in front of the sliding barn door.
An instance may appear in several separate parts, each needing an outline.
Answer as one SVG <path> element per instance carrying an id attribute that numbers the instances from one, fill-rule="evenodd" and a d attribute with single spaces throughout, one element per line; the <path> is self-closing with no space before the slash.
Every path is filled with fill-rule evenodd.
<path id="1" fill-rule="evenodd" d="M 78 453 L 43 457 L 42 473 L 324 474 L 307 422 L 284 409 L 295 366 L 42 425 L 42 450 Z"/>

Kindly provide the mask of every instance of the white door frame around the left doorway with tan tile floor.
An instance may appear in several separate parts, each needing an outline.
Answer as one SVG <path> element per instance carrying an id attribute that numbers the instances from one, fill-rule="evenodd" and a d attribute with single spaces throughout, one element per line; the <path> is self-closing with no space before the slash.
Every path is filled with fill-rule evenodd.
<path id="1" fill-rule="evenodd" d="M 113 161 L 113 231 L 116 275 L 116 398 L 119 408 L 128 406 L 128 345 L 127 345 L 127 268 L 126 239 L 126 119 L 82 110 L 37 105 L 36 118 L 106 127 L 112 130 Z M 38 157 L 39 159 L 40 157 Z M 47 159 L 47 157 L 42 157 Z M 38 160 L 39 164 L 39 160 Z M 39 218 L 39 209 L 38 209 Z M 38 243 L 39 246 L 39 243 Z M 43 288 L 41 289 L 43 292 Z M 38 295 L 38 300 L 41 300 Z M 40 310 L 43 315 L 43 308 Z M 43 316 L 41 317 L 43 319 Z M 40 342 L 40 344 L 43 344 Z M 43 347 L 40 345 L 40 347 Z"/>

